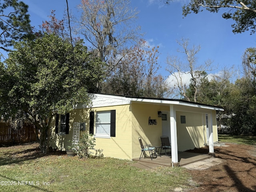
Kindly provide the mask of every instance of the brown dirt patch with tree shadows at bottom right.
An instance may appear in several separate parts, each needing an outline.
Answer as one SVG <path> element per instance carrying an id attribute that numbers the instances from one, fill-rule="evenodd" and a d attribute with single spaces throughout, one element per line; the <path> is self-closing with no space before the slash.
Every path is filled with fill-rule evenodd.
<path id="1" fill-rule="evenodd" d="M 229 147 L 214 147 L 216 158 L 224 162 L 206 170 L 188 170 L 194 182 L 199 184 L 192 192 L 255 192 L 256 147 L 227 144 Z M 208 147 L 190 150 L 207 154 Z"/>

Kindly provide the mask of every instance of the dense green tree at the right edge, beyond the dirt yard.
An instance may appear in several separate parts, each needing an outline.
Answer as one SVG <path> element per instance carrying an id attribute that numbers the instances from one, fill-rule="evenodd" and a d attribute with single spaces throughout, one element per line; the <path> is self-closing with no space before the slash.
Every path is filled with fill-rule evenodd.
<path id="1" fill-rule="evenodd" d="M 256 48 L 248 48 L 242 60 L 244 77 L 238 79 L 230 96 L 230 120 L 239 134 L 256 135 Z"/>

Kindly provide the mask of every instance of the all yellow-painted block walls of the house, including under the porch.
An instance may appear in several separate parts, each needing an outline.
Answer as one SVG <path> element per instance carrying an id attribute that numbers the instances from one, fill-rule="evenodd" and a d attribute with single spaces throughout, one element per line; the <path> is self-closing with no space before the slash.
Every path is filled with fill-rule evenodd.
<path id="1" fill-rule="evenodd" d="M 117 97 L 117 96 L 116 96 Z M 52 121 L 53 148 L 65 150 L 72 140 L 74 122 L 86 122 L 85 132 L 89 132 L 90 111 L 94 111 L 94 134 L 96 134 L 96 113 L 101 111 L 116 110 L 116 136 L 110 138 L 99 138 L 96 136 L 96 149 L 102 149 L 105 157 L 121 159 L 138 158 L 141 148 L 138 137 L 142 138 L 143 144 L 151 146 L 161 146 L 160 136 L 162 136 L 162 118 L 158 117 L 158 111 L 170 112 L 170 104 L 155 104 L 150 102 L 127 101 L 125 104 L 114 106 L 114 102 L 109 102 L 111 106 L 102 106 L 100 98 L 97 107 L 88 109 L 75 109 L 70 112 L 69 134 L 61 136 L 55 134 L 55 119 Z M 108 100 L 105 102 L 108 103 Z M 95 105 L 94 105 L 95 106 Z M 205 114 L 210 117 L 212 114 L 213 138 L 218 141 L 216 126 L 216 111 L 206 108 L 192 106 L 182 106 L 175 104 L 178 150 L 184 151 L 192 148 L 204 146 L 206 142 Z M 180 116 L 186 116 L 186 124 L 181 124 Z M 156 120 L 157 124 L 149 125 L 149 117 Z M 170 118 L 167 116 L 167 118 Z M 209 118 L 210 121 L 210 118 Z M 80 136 L 83 131 L 80 131 Z"/>

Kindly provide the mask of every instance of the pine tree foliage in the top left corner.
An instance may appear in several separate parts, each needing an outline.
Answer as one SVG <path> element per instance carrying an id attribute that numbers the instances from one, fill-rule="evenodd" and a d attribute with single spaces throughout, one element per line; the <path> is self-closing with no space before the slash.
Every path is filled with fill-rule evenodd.
<path id="1" fill-rule="evenodd" d="M 12 41 L 17 41 L 31 33 L 28 6 L 18 0 L 0 2 L 0 48 L 10 51 Z"/>

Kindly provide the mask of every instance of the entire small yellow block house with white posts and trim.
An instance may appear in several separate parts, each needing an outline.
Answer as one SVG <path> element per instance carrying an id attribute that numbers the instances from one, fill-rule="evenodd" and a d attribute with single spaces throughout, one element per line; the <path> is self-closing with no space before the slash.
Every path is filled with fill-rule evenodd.
<path id="1" fill-rule="evenodd" d="M 72 137 L 90 132 L 104 156 L 132 160 L 140 157 L 138 137 L 144 144 L 161 146 L 160 136 L 169 136 L 172 161 L 178 151 L 203 147 L 218 141 L 216 110 L 210 106 L 176 99 L 141 98 L 110 94 L 90 94 L 91 105 L 77 105 L 53 122 L 53 148 L 65 150 Z M 55 126 L 54 126 L 55 125 Z M 80 131 L 79 131 L 80 130 Z"/>

